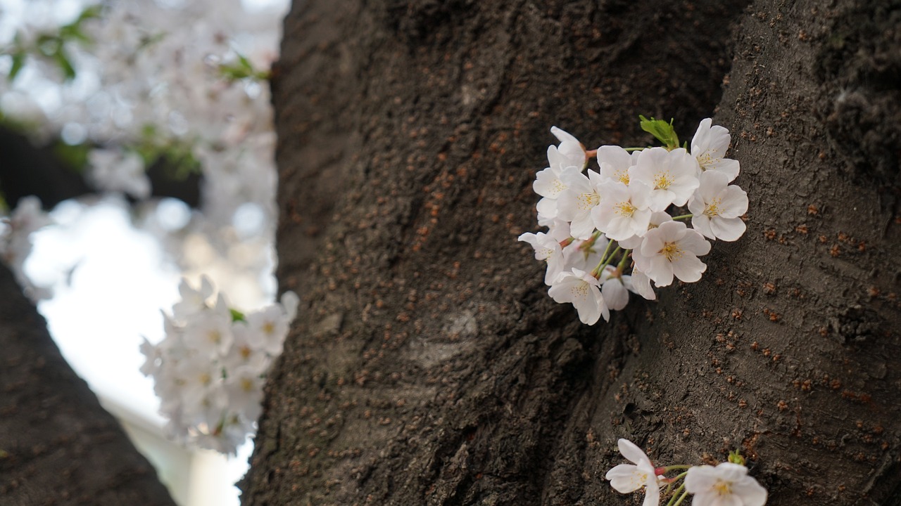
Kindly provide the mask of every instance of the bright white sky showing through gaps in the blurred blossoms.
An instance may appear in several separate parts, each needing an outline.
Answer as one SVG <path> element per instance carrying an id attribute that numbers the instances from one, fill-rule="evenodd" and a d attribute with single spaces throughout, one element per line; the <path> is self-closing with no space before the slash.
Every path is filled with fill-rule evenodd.
<path id="1" fill-rule="evenodd" d="M 156 1 L 160 5 L 190 2 Z M 0 47 L 12 40 L 24 19 L 48 26 L 68 23 L 85 5 L 94 3 L 93 0 L 0 0 Z M 248 12 L 266 9 L 285 12 L 287 3 L 288 0 L 241 0 Z M 277 29 L 280 27 L 273 27 Z M 8 57 L 0 58 L 0 73 L 8 71 L 10 65 Z M 29 72 L 32 69 L 28 66 L 23 68 L 18 81 L 30 82 Z M 62 104 L 57 83 L 32 85 L 29 91 L 43 109 L 50 111 Z M 77 79 L 67 86 L 76 90 L 84 88 L 87 92 L 96 88 L 98 81 L 91 72 L 79 72 Z M 11 97 L 13 104 L 3 105 L 14 110 L 16 100 L 14 95 Z M 65 138 L 66 129 L 63 131 Z M 144 360 L 139 346 L 144 337 L 152 343 L 163 339 L 160 310 L 168 311 L 177 302 L 180 271 L 158 239 L 132 227 L 131 212 L 127 203 L 114 197 L 105 197 L 99 203 L 59 204 L 51 212 L 59 224 L 32 236 L 34 247 L 25 272 L 36 285 L 52 285 L 53 298 L 42 301 L 38 309 L 77 374 L 105 401 L 114 402 L 150 426 L 161 429 L 166 420 L 157 414 L 159 400 L 153 393 L 152 381 L 139 371 Z M 248 207 L 237 213 L 235 227 L 239 232 L 241 226 L 259 228 L 260 216 L 259 209 Z M 163 229 L 178 230 L 189 217 L 187 206 L 169 199 L 160 203 L 151 219 Z M 185 253 L 203 257 L 203 246 L 188 248 Z M 213 260 L 199 263 L 214 281 L 221 277 L 217 275 L 227 276 L 232 271 L 214 265 Z M 265 285 L 266 280 L 231 281 L 230 302 L 245 310 L 263 303 L 260 294 L 271 297 L 274 292 L 274 287 Z M 246 286 L 247 283 L 252 286 Z M 238 491 L 232 483 L 246 471 L 251 449 L 250 444 L 239 448 L 239 456 L 229 460 L 227 473 L 216 476 L 221 486 L 232 491 L 231 501 L 216 506 L 238 504 Z"/>

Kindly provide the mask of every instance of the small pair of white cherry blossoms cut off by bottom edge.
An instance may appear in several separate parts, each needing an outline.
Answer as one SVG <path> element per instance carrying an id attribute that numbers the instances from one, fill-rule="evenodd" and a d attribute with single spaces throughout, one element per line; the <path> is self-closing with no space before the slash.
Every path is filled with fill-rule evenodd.
<path id="1" fill-rule="evenodd" d="M 632 441 L 620 439 L 620 453 L 632 464 L 615 465 L 605 478 L 616 492 L 644 491 L 642 506 L 678 506 L 692 495 L 694 506 L 763 506 L 767 489 L 748 475 L 744 458 L 733 452 L 728 462 L 718 465 L 667 465 L 655 467 L 651 459 Z M 678 472 L 667 477 L 666 474 Z"/>

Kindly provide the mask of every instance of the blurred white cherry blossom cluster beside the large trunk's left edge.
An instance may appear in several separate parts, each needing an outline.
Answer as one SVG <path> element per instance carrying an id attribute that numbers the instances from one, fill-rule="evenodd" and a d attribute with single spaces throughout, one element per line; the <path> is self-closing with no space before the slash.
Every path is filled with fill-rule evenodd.
<path id="1" fill-rule="evenodd" d="M 141 373 L 153 377 L 171 438 L 235 454 L 256 431 L 266 373 L 281 355 L 297 295 L 245 314 L 221 293 L 214 298 L 206 277 L 199 289 L 182 280 L 178 290 L 181 302 L 163 312 L 166 337 L 141 345 Z"/>

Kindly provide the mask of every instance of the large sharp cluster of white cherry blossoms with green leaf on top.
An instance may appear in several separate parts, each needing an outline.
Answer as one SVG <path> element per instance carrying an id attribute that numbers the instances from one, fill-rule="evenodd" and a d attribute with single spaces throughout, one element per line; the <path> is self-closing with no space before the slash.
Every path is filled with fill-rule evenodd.
<path id="1" fill-rule="evenodd" d="M 548 148 L 548 167 L 532 185 L 542 196 L 538 224 L 548 230 L 519 240 L 547 263 L 551 297 L 572 303 L 589 325 L 609 321 L 629 292 L 654 300 L 655 286 L 696 282 L 710 240 L 737 240 L 745 231 L 748 195 L 730 185 L 740 168 L 725 158 L 728 130 L 703 120 L 689 150 L 679 147 L 671 122 L 642 117 L 642 129 L 663 147 L 587 150 L 551 128 L 560 144 Z M 592 158 L 596 167 L 588 167 Z"/>

